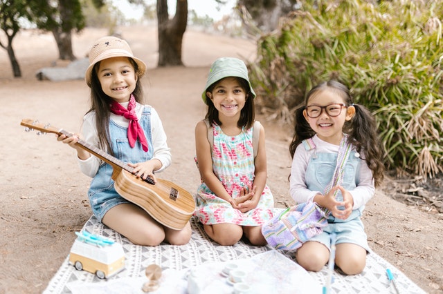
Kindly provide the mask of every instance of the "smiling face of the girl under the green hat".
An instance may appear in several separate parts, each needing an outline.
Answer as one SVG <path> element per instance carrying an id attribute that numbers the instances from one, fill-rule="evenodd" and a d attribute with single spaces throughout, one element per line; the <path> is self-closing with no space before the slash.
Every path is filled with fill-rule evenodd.
<path id="1" fill-rule="evenodd" d="M 239 119 L 246 102 L 246 90 L 236 77 L 221 79 L 212 92 L 206 92 L 206 95 L 213 101 L 215 108 L 219 111 L 219 118 L 225 116 Z"/>

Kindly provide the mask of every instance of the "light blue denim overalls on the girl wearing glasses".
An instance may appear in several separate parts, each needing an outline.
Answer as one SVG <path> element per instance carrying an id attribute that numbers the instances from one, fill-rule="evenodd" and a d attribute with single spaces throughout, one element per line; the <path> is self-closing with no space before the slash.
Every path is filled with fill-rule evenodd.
<path id="1" fill-rule="evenodd" d="M 332 176 L 334 175 L 338 154 L 317 153 L 315 146 L 309 148 L 307 144 L 303 145 L 312 153 L 307 164 L 305 175 L 307 188 L 312 191 L 320 191 L 323 193 L 325 187 L 331 182 Z M 356 153 L 355 150 L 352 150 L 345 165 L 343 183 L 341 184 L 345 190 L 353 190 L 359 185 L 361 160 L 362 159 L 359 157 L 358 153 Z M 336 194 L 336 199 L 339 202 L 343 201 L 343 195 L 341 195 L 339 190 Z M 329 224 L 323 228 L 323 233 L 309 239 L 309 241 L 320 242 L 330 249 L 331 242 L 329 234 L 336 233 L 336 244 L 357 244 L 365 248 L 366 251 L 370 251 L 364 226 L 360 219 L 363 209 L 364 206 L 352 210 L 350 217 L 344 220 L 336 219 L 330 214 L 327 219 Z"/>

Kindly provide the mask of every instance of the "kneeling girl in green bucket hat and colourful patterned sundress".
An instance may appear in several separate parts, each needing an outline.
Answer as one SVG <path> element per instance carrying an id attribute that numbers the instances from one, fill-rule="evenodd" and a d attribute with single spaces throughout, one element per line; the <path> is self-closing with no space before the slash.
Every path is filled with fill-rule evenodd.
<path id="1" fill-rule="evenodd" d="M 273 217 L 273 196 L 266 186 L 264 130 L 254 122 L 255 92 L 244 62 L 217 59 L 201 97 L 208 112 L 195 128 L 202 180 L 195 215 L 218 244 L 233 245 L 245 235 L 251 244 L 263 246 L 261 227 Z"/>

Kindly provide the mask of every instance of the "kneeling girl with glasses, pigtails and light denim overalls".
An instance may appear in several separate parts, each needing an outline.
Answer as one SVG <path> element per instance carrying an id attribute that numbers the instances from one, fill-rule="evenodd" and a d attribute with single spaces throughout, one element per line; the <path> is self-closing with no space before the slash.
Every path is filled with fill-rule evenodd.
<path id="1" fill-rule="evenodd" d="M 307 271 L 320 271 L 329 260 L 334 233 L 336 266 L 347 275 L 359 274 L 370 251 L 360 217 L 384 170 L 374 117 L 352 103 L 343 84 L 326 81 L 312 88 L 296 110 L 294 134 L 289 146 L 291 197 L 296 203 L 315 202 L 329 210 L 323 232 L 297 249 L 297 262 Z M 341 184 L 332 186 L 342 140 L 351 144 L 351 151 L 343 163 Z"/>

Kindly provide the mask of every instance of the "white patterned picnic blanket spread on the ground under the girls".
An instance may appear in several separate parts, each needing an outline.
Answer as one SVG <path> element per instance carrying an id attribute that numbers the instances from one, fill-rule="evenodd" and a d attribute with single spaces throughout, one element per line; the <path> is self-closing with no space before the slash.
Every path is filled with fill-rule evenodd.
<path id="1" fill-rule="evenodd" d="M 246 271 L 246 282 L 253 286 L 251 293 L 321 293 L 327 278 L 326 266 L 312 273 L 298 266 L 291 252 L 250 246 L 242 241 L 234 246 L 219 246 L 210 241 L 195 217 L 190 222 L 192 238 L 188 244 L 151 247 L 132 244 L 92 216 L 82 229 L 122 244 L 125 269 L 108 280 L 100 280 L 92 273 L 75 270 L 66 257 L 44 293 L 143 293 L 141 288 L 147 282 L 145 269 L 150 264 L 163 269 L 160 288 L 150 293 L 186 294 L 188 273 L 195 268 L 201 272 L 199 282 L 204 293 L 233 293 L 232 285 L 220 274 L 226 262 L 235 262 Z M 395 276 L 400 293 L 425 293 L 374 252 L 368 254 L 365 270 L 359 275 L 346 276 L 335 271 L 331 293 L 396 293 L 386 268 Z"/>

